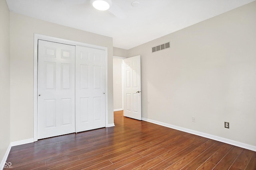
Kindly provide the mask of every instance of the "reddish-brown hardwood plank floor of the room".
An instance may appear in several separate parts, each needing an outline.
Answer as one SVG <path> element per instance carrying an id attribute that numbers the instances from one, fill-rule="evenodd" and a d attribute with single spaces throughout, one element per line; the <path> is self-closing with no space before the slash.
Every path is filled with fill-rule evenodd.
<path id="1" fill-rule="evenodd" d="M 256 170 L 251 150 L 123 116 L 114 123 L 12 147 L 6 162 L 15 170 Z"/>

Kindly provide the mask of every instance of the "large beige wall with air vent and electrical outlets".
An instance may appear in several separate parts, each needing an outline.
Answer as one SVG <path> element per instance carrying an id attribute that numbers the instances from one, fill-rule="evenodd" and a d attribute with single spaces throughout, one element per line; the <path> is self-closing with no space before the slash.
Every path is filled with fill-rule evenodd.
<path id="1" fill-rule="evenodd" d="M 130 49 L 141 55 L 142 117 L 255 147 L 255 9 L 252 2 Z M 151 53 L 168 41 L 170 49 Z"/>

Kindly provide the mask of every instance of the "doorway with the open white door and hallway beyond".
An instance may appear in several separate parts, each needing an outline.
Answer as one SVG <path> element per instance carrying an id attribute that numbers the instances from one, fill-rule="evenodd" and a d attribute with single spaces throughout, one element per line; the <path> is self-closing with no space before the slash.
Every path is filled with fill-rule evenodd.
<path id="1" fill-rule="evenodd" d="M 114 111 L 122 110 L 124 116 L 141 120 L 140 55 L 113 57 L 113 81 Z"/>

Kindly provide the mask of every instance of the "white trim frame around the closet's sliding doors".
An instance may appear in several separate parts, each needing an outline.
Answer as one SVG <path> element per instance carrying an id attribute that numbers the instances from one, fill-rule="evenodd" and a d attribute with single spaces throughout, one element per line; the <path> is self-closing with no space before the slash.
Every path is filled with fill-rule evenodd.
<path id="1" fill-rule="evenodd" d="M 33 76 L 34 76 L 34 87 L 33 87 L 33 112 L 34 112 L 34 142 L 38 141 L 38 124 L 37 124 L 37 87 L 38 87 L 38 39 L 44 40 L 44 41 L 51 41 L 54 43 L 62 43 L 62 44 L 67 44 L 67 45 L 80 45 L 83 47 L 89 47 L 89 48 L 94 48 L 94 49 L 100 49 L 104 50 L 106 53 L 106 63 L 105 63 L 105 114 L 106 114 L 106 122 L 105 126 L 108 127 L 108 48 L 107 47 L 102 47 L 98 45 L 92 45 L 92 44 L 87 44 L 87 43 L 81 43 L 77 41 L 71 41 L 71 40 L 66 40 L 66 39 L 60 39 L 56 37 L 50 37 L 47 35 L 41 35 L 34 33 L 34 69 L 33 69 Z"/>

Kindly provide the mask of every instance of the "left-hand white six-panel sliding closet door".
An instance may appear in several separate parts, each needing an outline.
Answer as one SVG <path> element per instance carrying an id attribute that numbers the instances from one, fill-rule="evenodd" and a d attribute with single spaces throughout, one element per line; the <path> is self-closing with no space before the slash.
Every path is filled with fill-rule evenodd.
<path id="1" fill-rule="evenodd" d="M 38 139 L 75 132 L 75 46 L 38 40 Z"/>

